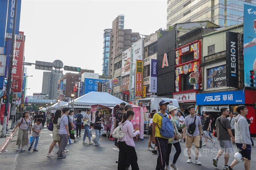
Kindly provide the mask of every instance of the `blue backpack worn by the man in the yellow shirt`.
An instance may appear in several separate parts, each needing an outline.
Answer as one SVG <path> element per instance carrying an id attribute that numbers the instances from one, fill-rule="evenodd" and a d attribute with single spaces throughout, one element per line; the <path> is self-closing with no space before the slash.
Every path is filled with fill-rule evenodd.
<path id="1" fill-rule="evenodd" d="M 163 116 L 160 112 L 157 112 L 157 113 L 162 116 L 162 126 L 161 126 L 161 128 L 159 128 L 158 124 L 156 123 L 159 130 L 160 130 L 160 134 L 163 137 L 166 137 L 166 138 L 174 137 L 173 125 L 172 125 L 171 120 L 167 117 L 167 115 Z"/>

